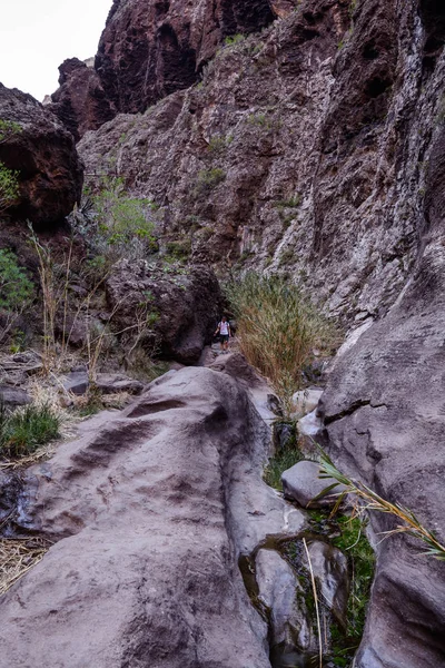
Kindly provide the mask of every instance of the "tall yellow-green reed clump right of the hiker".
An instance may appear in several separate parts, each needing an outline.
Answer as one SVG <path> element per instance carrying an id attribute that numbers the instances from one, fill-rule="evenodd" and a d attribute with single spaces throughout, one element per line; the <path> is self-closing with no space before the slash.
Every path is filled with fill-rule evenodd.
<path id="1" fill-rule="evenodd" d="M 295 285 L 278 276 L 248 273 L 227 287 L 237 335 L 248 362 L 267 376 L 287 413 L 301 386 L 303 367 L 313 350 L 326 350 L 337 334 Z"/>

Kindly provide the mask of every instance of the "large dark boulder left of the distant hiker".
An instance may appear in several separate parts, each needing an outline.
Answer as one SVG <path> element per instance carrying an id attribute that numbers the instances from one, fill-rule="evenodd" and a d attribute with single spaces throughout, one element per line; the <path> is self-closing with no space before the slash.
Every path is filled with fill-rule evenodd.
<path id="1" fill-rule="evenodd" d="M 121 261 L 106 287 L 120 328 L 135 326 L 141 304 L 147 304 L 156 318 L 150 343 L 164 357 L 192 364 L 211 342 L 222 301 L 211 269 Z"/>

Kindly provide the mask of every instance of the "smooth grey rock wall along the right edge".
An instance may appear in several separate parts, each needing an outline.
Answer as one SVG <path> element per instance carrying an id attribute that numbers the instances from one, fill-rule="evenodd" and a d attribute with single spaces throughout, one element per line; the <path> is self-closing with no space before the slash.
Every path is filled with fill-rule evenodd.
<path id="1" fill-rule="evenodd" d="M 431 154 L 426 223 L 412 279 L 342 357 L 322 399 L 338 465 L 409 508 L 445 542 L 445 131 Z M 376 531 L 396 523 L 373 517 Z M 379 543 L 358 668 L 445 665 L 445 571 L 421 541 Z M 400 638 L 403 637 L 403 644 Z"/>

